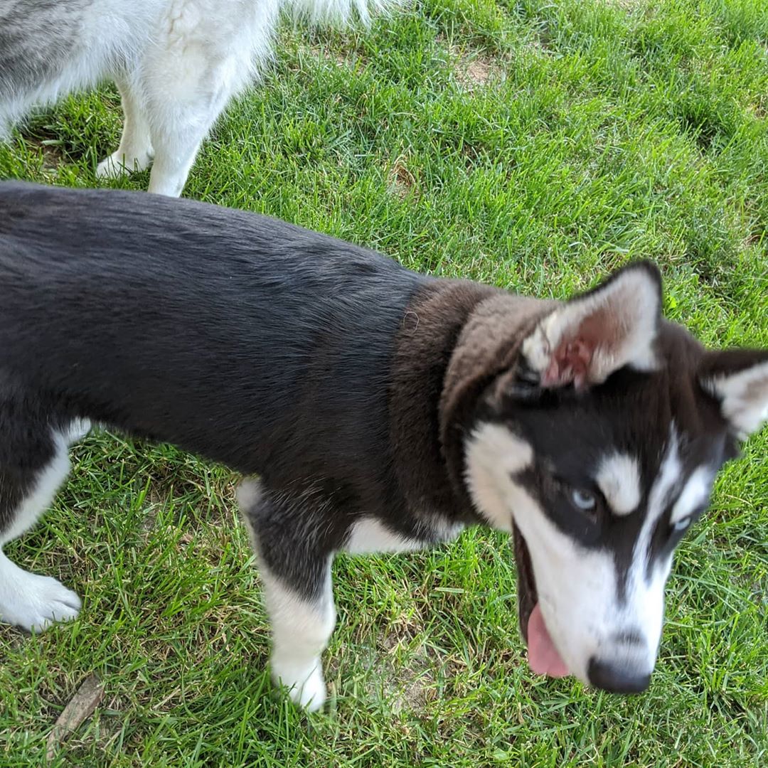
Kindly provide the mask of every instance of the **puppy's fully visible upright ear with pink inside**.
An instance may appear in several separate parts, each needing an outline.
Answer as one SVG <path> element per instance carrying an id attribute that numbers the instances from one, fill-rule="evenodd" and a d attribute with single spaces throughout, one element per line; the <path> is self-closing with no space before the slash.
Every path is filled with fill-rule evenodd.
<path id="1" fill-rule="evenodd" d="M 660 315 L 659 270 L 638 261 L 541 319 L 522 354 L 544 387 L 600 384 L 624 366 L 653 370 Z"/>

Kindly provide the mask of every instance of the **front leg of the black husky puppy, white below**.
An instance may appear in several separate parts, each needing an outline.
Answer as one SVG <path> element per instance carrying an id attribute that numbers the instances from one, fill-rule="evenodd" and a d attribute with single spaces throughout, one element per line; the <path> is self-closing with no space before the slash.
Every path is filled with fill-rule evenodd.
<path id="1" fill-rule="evenodd" d="M 272 677 L 291 700 L 318 710 L 326 700 L 323 650 L 336 624 L 331 562 L 312 535 L 306 517 L 286 499 L 276 502 L 259 482 L 238 489 L 243 521 L 257 554 L 264 604 L 272 627 Z M 302 525 L 303 524 L 303 525 Z"/>

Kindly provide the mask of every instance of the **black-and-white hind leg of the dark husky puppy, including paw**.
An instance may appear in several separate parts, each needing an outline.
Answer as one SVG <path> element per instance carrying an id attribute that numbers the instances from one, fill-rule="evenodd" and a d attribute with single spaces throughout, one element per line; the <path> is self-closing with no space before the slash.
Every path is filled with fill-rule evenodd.
<path id="1" fill-rule="evenodd" d="M 4 413 L 0 446 L 0 620 L 28 631 L 74 619 L 80 598 L 55 578 L 32 574 L 6 557 L 2 547 L 22 535 L 48 507 L 69 472 L 68 442 L 83 424 L 51 431 L 45 422 L 29 429 Z M 35 433 L 36 432 L 36 433 Z"/>

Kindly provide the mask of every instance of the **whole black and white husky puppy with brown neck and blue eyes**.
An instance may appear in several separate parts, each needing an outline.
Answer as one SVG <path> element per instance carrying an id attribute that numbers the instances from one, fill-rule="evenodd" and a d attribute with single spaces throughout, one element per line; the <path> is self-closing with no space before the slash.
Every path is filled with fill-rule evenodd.
<path id="1" fill-rule="evenodd" d="M 515 538 L 533 670 L 644 690 L 674 548 L 768 415 L 768 351 L 708 351 L 660 310 L 644 262 L 560 303 L 238 210 L 0 185 L 0 545 L 101 422 L 258 475 L 273 675 L 307 707 L 334 555 L 477 524 Z M 79 607 L 0 554 L 5 621 Z"/>

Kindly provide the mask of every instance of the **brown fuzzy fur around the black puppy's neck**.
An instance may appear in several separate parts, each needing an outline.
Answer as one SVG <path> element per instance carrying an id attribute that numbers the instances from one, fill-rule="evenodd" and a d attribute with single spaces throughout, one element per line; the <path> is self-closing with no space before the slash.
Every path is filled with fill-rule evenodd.
<path id="1" fill-rule="evenodd" d="M 463 481 L 472 412 L 554 306 L 458 280 L 431 281 L 415 294 L 396 339 L 389 406 L 395 471 L 410 508 L 481 521 Z"/>

